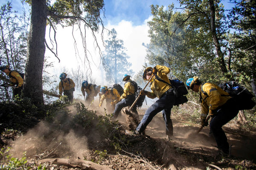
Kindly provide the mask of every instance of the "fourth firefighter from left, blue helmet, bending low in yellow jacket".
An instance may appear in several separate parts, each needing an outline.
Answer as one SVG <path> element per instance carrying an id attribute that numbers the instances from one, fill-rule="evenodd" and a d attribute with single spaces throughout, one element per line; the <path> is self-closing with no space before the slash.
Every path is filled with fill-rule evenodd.
<path id="1" fill-rule="evenodd" d="M 106 107 L 109 108 L 108 105 L 111 105 L 113 111 L 113 109 L 116 106 L 116 103 L 118 103 L 120 100 L 119 92 L 115 88 L 108 88 L 107 86 L 102 86 L 100 88 L 100 93 L 102 95 L 100 97 L 99 107 L 102 106 L 102 102 L 104 101 L 104 99 L 106 99 Z"/>

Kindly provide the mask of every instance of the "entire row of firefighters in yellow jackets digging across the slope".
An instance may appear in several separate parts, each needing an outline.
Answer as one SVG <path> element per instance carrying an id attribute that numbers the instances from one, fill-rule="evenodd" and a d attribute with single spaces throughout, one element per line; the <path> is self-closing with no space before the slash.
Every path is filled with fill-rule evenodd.
<path id="1" fill-rule="evenodd" d="M 17 71 L 10 72 L 9 66 L 1 66 L 1 71 L 6 73 L 12 82 L 11 85 L 16 85 L 19 91 L 22 89 L 23 79 Z M 10 73 L 12 75 L 10 75 Z M 175 103 L 175 93 L 174 88 L 171 85 L 167 74 L 170 73 L 170 69 L 166 66 L 156 65 L 154 68 L 148 67 L 143 72 L 143 79 L 150 81 L 151 92 L 141 90 L 140 95 L 146 95 L 151 99 L 155 97 L 158 98 L 154 104 L 152 104 L 146 111 L 143 118 L 140 120 L 139 125 L 134 130 L 135 134 L 141 134 L 145 131 L 145 128 L 151 122 L 153 117 L 162 111 L 163 119 L 166 125 L 166 135 L 173 136 L 173 125 L 171 117 L 171 109 Z M 164 81 L 159 81 L 158 78 Z M 75 90 L 75 83 L 72 79 L 67 78 L 66 73 L 60 75 L 61 81 L 59 82 L 59 94 L 68 96 L 68 99 L 73 101 L 73 91 Z M 99 107 L 102 106 L 104 99 L 114 107 L 113 119 L 116 119 L 122 108 L 126 106 L 131 106 L 135 101 L 135 87 L 130 79 L 129 75 L 123 77 L 125 82 L 124 93 L 120 96 L 119 92 L 115 88 L 108 88 L 107 86 L 102 86 L 100 88 L 100 102 Z M 209 114 L 211 116 L 211 121 L 209 123 L 210 132 L 213 134 L 215 141 L 217 143 L 218 149 L 221 154 L 227 155 L 229 153 L 229 144 L 227 142 L 227 137 L 222 130 L 222 126 L 227 124 L 232 120 L 239 112 L 236 108 L 236 100 L 223 91 L 218 85 L 210 82 L 202 84 L 198 77 L 189 78 L 186 81 L 188 89 L 199 93 L 201 98 L 201 125 L 207 126 L 208 122 L 206 117 Z M 87 81 L 82 82 L 81 91 L 83 96 L 85 92 L 87 94 L 87 101 L 92 102 L 95 96 L 95 89 L 93 85 L 89 84 Z M 204 92 L 204 93 L 203 93 Z M 17 93 L 17 92 L 16 92 Z M 18 92 L 17 94 L 20 94 Z M 133 107 L 131 110 L 137 116 L 137 108 Z"/>

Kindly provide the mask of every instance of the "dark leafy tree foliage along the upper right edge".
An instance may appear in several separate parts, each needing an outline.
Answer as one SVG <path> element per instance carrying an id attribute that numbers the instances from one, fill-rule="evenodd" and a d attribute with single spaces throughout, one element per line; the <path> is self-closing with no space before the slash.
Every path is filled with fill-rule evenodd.
<path id="1" fill-rule="evenodd" d="M 230 35 L 230 48 L 233 51 L 232 61 L 234 78 L 250 83 L 256 78 L 256 0 L 241 0 L 230 11 L 230 26 L 237 30 Z"/>

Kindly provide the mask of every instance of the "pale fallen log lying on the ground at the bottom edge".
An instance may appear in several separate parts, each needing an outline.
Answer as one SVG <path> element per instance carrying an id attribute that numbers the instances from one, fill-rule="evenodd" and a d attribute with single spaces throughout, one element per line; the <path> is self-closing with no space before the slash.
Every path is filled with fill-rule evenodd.
<path id="1" fill-rule="evenodd" d="M 106 165 L 96 164 L 92 161 L 85 161 L 83 159 L 64 159 L 64 158 L 49 158 L 49 159 L 41 159 L 38 162 L 46 163 L 50 162 L 53 164 L 61 164 L 61 165 L 80 165 L 88 168 L 93 168 L 95 170 L 113 170 Z"/>

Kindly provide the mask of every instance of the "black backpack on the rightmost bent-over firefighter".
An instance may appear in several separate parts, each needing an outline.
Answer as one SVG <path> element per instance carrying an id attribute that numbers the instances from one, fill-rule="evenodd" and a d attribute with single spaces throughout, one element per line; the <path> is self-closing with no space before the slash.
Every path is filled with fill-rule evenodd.
<path id="1" fill-rule="evenodd" d="M 232 98 L 236 99 L 237 103 L 239 103 L 239 105 L 237 105 L 239 111 L 250 110 L 255 106 L 255 102 L 252 100 L 254 97 L 253 94 L 237 82 L 228 81 L 218 86 L 226 91 Z"/>

